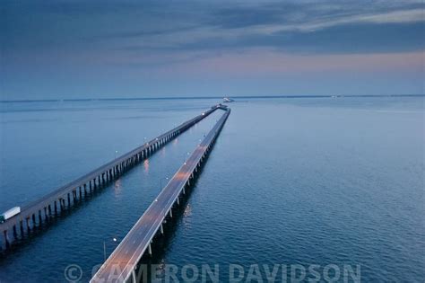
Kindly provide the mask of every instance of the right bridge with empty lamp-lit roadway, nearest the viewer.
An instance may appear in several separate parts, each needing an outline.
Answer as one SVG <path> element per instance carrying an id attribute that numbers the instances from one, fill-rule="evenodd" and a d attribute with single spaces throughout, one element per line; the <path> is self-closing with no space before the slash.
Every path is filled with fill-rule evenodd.
<path id="1" fill-rule="evenodd" d="M 136 282 L 135 270 L 137 263 L 146 250 L 152 255 L 152 240 L 159 231 L 164 234 L 163 223 L 167 217 L 172 217 L 172 208 L 179 204 L 179 198 L 186 193 L 186 186 L 195 177 L 198 168 L 203 164 L 204 158 L 209 154 L 215 139 L 220 134 L 230 109 L 219 106 L 225 111 L 204 140 L 195 148 L 195 151 L 178 172 L 169 180 L 169 183 L 160 191 L 143 216 L 135 223 L 126 237 L 112 252 L 108 260 L 103 263 L 100 270 L 93 276 L 91 283 L 100 282 Z"/>

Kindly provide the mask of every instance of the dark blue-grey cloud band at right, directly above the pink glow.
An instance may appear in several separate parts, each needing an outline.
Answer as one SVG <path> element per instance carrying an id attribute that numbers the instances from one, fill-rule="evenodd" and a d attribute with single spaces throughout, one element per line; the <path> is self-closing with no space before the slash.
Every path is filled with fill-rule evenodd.
<path id="1" fill-rule="evenodd" d="M 425 49 L 423 23 L 356 23 L 335 25 L 315 31 L 277 31 L 236 37 L 211 37 L 182 43 L 181 50 L 232 50 L 256 47 L 291 53 L 377 53 Z"/>

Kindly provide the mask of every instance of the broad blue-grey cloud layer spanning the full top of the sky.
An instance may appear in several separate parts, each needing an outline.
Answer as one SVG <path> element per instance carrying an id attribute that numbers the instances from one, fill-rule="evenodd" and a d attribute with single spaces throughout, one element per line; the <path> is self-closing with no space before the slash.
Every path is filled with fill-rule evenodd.
<path id="1" fill-rule="evenodd" d="M 425 49 L 424 7 L 410 0 L 119 5 L 6 0 L 1 46 L 6 61 L 26 55 L 150 66 L 247 49 L 302 55 L 413 52 Z"/>

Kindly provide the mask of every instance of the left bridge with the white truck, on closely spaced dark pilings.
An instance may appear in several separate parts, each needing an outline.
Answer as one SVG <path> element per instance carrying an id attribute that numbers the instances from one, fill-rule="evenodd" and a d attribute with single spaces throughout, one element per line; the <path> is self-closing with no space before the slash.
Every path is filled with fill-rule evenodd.
<path id="1" fill-rule="evenodd" d="M 4 234 L 5 248 L 9 248 L 11 245 L 10 233 L 13 234 L 13 239 L 18 238 L 18 233 L 23 239 L 25 234 L 30 234 L 31 229 L 42 226 L 43 223 L 48 224 L 49 219 L 65 211 L 65 209 L 78 204 L 79 200 L 88 196 L 93 190 L 98 190 L 106 186 L 109 182 L 116 180 L 119 176 L 134 167 L 135 164 L 139 164 L 161 146 L 164 146 L 170 140 L 178 137 L 178 135 L 186 131 L 186 129 L 191 128 L 197 122 L 218 109 L 226 109 L 226 107 L 221 104 L 214 105 L 211 109 L 153 138 L 149 142 L 143 144 L 143 146 L 139 146 L 125 155 L 117 157 L 108 164 L 100 166 L 81 178 L 71 181 L 43 198 L 25 206 L 22 208 L 21 213 L 0 224 L 0 231 Z M 0 251 L 2 249 L 3 244 L 0 244 Z"/>

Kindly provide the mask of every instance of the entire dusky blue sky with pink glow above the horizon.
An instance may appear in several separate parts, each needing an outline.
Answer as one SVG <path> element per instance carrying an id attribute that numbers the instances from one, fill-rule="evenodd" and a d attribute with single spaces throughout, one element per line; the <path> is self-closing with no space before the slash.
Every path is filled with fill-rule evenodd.
<path id="1" fill-rule="evenodd" d="M 424 94 L 424 6 L 2 0 L 1 100 Z"/>

